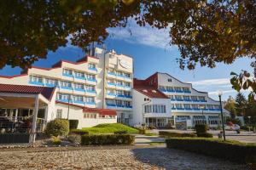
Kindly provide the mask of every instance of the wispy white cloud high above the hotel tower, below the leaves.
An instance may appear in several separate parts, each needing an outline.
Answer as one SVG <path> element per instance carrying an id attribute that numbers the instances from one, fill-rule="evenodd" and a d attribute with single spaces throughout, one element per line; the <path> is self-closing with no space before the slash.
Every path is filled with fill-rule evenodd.
<path id="1" fill-rule="evenodd" d="M 130 20 L 130 25 L 126 28 L 110 28 L 108 33 L 110 34 L 109 38 L 113 40 L 124 40 L 125 42 L 166 50 L 176 48 L 170 46 L 171 37 L 168 29 L 159 30 L 150 26 L 137 26 L 134 20 Z"/>

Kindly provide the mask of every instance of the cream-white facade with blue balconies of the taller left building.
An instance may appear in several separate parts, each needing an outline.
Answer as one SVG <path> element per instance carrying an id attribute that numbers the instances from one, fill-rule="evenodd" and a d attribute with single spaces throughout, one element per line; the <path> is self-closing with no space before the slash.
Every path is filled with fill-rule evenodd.
<path id="1" fill-rule="evenodd" d="M 61 60 L 52 68 L 32 66 L 18 76 L 0 76 L 0 83 L 56 87 L 54 103 L 60 101 L 89 108 L 112 109 L 117 111 L 119 122 L 129 124 L 132 114 L 133 59 L 100 48 L 96 48 L 95 52 L 95 57 L 86 56 L 77 62 Z M 64 105 L 61 108 L 63 113 L 67 112 Z M 57 110 L 60 110 L 60 104 L 47 111 L 48 121 L 56 117 Z M 79 127 L 117 121 L 96 117 L 96 122 L 91 122 L 83 118 L 80 110 L 72 108 L 70 111 L 71 118 L 77 117 L 84 124 L 82 126 L 79 122 Z M 59 118 L 65 118 L 65 115 Z"/>

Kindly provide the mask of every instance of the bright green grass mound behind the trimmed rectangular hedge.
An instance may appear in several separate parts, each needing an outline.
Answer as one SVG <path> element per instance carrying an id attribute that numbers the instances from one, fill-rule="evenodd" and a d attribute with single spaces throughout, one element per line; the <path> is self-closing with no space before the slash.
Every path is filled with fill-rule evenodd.
<path id="1" fill-rule="evenodd" d="M 138 130 L 133 127 L 128 127 L 120 123 L 104 123 L 96 125 L 95 127 L 84 127 L 83 131 L 87 131 L 90 134 L 97 133 L 114 133 L 116 131 L 127 131 L 127 133 L 138 133 Z"/>

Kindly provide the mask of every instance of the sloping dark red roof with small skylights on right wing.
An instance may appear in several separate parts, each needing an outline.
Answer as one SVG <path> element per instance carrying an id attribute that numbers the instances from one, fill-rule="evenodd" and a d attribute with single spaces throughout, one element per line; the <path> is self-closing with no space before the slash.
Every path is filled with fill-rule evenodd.
<path id="1" fill-rule="evenodd" d="M 152 86 L 134 86 L 137 92 L 148 96 L 148 98 L 158 98 L 158 99 L 169 99 L 166 94 L 161 93 L 157 88 Z"/>

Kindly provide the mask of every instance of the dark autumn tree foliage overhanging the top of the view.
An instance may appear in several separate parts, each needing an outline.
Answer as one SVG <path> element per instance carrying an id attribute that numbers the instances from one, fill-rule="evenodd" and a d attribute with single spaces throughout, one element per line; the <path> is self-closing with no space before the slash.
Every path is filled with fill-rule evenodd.
<path id="1" fill-rule="evenodd" d="M 170 44 L 181 52 L 181 69 L 255 58 L 254 0 L 9 0 L 0 2 L 0 68 L 30 66 L 66 46 L 67 37 L 88 51 L 95 42 L 104 42 L 108 28 L 125 27 L 128 18 L 139 26 L 169 29 Z M 247 71 L 232 75 L 237 91 L 256 92 Z"/>

